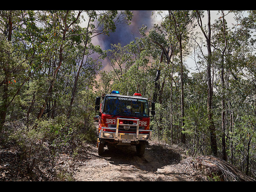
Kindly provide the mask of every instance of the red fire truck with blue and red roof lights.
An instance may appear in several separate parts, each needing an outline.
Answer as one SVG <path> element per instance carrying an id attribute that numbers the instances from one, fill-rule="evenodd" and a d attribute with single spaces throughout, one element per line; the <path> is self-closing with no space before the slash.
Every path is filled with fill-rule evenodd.
<path id="1" fill-rule="evenodd" d="M 98 154 L 104 152 L 104 146 L 113 148 L 116 145 L 135 145 L 138 156 L 145 152 L 145 145 L 151 140 L 148 99 L 142 94 L 133 96 L 120 95 L 112 91 L 102 97 L 96 97 L 95 109 L 99 111 Z M 154 103 L 151 103 L 151 114 L 154 116 Z"/>

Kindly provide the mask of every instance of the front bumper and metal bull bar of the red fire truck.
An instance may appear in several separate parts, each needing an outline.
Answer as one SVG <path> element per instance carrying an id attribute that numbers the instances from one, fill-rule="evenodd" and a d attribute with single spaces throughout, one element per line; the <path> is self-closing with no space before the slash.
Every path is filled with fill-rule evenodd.
<path id="1" fill-rule="evenodd" d="M 130 124 L 120 124 L 120 120 L 136 121 L 136 131 L 129 132 L 120 129 L 121 126 L 130 126 Z M 151 140 L 152 130 L 139 129 L 139 120 L 117 118 L 116 128 L 102 127 L 99 132 L 100 139 L 113 139 L 113 140 L 124 140 L 125 142 L 138 141 L 138 140 Z"/>

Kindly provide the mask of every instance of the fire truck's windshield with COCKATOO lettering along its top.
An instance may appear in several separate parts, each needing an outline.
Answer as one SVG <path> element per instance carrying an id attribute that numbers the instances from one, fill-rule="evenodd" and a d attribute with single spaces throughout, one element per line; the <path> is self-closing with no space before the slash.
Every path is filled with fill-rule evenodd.
<path id="1" fill-rule="evenodd" d="M 148 117 L 148 101 L 139 98 L 106 96 L 103 112 L 111 115 Z"/>

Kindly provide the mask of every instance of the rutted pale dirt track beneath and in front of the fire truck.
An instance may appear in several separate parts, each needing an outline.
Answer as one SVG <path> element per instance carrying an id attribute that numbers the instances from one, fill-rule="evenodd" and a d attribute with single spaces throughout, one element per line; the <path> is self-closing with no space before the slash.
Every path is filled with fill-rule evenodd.
<path id="1" fill-rule="evenodd" d="M 196 173 L 186 162 L 184 152 L 176 146 L 150 141 L 142 157 L 135 146 L 104 148 L 98 155 L 90 148 L 88 160 L 74 173 L 76 181 L 194 181 Z"/>

